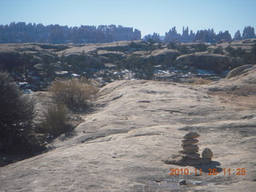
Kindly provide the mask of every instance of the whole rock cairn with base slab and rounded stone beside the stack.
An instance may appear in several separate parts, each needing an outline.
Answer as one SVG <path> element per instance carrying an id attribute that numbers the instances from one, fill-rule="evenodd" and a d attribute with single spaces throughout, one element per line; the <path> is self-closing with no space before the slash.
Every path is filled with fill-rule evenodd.
<path id="1" fill-rule="evenodd" d="M 202 150 L 202 158 L 198 154 L 199 147 L 195 145 L 198 143 L 200 135 L 196 132 L 190 132 L 186 134 L 182 140 L 182 150 L 179 150 L 179 154 L 167 155 L 162 161 L 166 164 L 180 165 L 180 166 L 197 166 L 211 162 L 213 152 L 205 148 Z"/>

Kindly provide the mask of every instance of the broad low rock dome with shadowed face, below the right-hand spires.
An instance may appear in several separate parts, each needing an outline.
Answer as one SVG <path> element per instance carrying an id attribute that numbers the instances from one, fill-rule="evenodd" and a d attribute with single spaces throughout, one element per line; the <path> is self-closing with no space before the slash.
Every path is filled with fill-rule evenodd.
<path id="1" fill-rule="evenodd" d="M 176 59 L 179 65 L 194 66 L 202 70 L 226 70 L 230 66 L 230 58 L 222 54 L 206 52 L 184 54 Z"/>

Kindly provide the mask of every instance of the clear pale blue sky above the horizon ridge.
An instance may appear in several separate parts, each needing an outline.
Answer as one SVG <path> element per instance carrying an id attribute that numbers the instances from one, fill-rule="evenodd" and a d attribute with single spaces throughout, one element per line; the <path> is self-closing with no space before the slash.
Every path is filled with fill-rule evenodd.
<path id="1" fill-rule="evenodd" d="M 0 24 L 122 25 L 142 30 L 142 36 L 214 28 L 242 32 L 256 27 L 256 0 L 0 0 Z"/>

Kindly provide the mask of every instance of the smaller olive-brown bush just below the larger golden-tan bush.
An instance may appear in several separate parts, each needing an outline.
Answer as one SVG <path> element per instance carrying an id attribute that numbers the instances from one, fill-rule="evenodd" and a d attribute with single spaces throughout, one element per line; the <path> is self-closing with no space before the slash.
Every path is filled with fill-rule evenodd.
<path id="1" fill-rule="evenodd" d="M 44 111 L 41 131 L 45 134 L 59 135 L 70 129 L 68 110 L 64 104 L 51 105 Z"/>

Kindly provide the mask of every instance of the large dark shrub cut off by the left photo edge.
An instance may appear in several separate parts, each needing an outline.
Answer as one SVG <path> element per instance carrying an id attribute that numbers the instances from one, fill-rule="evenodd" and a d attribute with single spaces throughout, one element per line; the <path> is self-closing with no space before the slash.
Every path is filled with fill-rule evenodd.
<path id="1" fill-rule="evenodd" d="M 33 118 L 34 100 L 22 94 L 9 74 L 0 72 L 0 148 L 26 137 Z"/>

